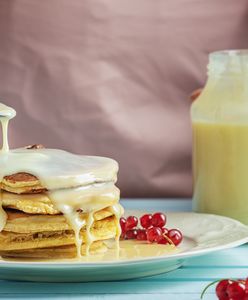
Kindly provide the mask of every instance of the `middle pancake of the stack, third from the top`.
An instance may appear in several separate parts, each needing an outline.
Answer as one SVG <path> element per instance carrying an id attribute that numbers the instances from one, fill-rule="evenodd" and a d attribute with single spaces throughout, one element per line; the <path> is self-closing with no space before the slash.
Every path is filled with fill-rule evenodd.
<path id="1" fill-rule="evenodd" d="M 42 231 L 65 231 L 71 230 L 70 225 L 63 215 L 30 215 L 22 212 L 7 212 L 8 219 L 4 231 L 13 233 L 36 233 Z M 95 212 L 94 220 L 100 221 L 111 217 L 113 213 L 110 208 Z M 81 220 L 87 220 L 88 214 L 81 213 Z M 1 233 L 0 233 L 1 235 Z M 1 245 L 0 245 L 1 248 Z"/>

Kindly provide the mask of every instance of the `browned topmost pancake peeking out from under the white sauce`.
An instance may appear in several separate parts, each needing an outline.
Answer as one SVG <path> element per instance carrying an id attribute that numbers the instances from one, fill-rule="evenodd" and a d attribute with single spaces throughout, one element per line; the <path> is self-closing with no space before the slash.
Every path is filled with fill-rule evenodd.
<path id="1" fill-rule="evenodd" d="M 1 189 L 15 194 L 36 194 L 46 191 L 36 176 L 25 172 L 4 176 Z"/>

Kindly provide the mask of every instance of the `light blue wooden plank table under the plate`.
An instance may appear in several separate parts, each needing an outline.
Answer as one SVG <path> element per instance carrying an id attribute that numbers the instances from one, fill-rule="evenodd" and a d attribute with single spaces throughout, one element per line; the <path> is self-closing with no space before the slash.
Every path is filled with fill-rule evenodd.
<path id="1" fill-rule="evenodd" d="M 191 201 L 180 199 L 123 200 L 129 209 L 190 211 Z M 248 245 L 189 259 L 173 272 L 128 281 L 100 283 L 31 283 L 0 281 L 0 299 L 168 299 L 197 300 L 210 282 L 248 276 Z M 204 299 L 216 299 L 210 288 Z"/>

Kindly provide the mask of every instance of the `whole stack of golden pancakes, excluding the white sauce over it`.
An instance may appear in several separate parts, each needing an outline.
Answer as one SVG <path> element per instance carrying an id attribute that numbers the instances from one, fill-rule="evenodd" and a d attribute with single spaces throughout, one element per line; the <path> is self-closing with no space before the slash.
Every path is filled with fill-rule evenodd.
<path id="1" fill-rule="evenodd" d="M 29 173 L 5 176 L 1 182 L 1 202 L 7 221 L 0 232 L 0 255 L 4 257 L 75 257 L 75 234 L 66 217 L 54 206 L 46 188 Z M 118 196 L 117 196 L 118 197 Z M 101 201 L 101 199 L 99 199 Z M 118 199 L 117 199 L 118 201 Z M 81 219 L 88 214 L 79 210 Z M 90 252 L 106 250 L 104 241 L 117 235 L 117 220 L 111 206 L 94 213 L 90 228 Z M 86 250 L 86 225 L 81 228 L 81 253 Z"/>

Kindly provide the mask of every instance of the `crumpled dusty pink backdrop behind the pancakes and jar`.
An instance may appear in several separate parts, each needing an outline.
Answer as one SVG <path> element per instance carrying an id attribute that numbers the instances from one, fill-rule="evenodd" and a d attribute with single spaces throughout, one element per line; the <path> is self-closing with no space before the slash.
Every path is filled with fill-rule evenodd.
<path id="1" fill-rule="evenodd" d="M 11 146 L 111 156 L 123 196 L 189 196 L 188 95 L 247 26 L 247 0 L 1 0 Z"/>

